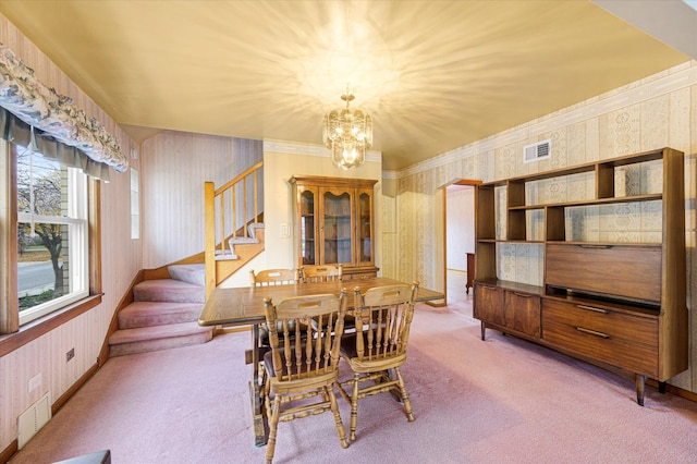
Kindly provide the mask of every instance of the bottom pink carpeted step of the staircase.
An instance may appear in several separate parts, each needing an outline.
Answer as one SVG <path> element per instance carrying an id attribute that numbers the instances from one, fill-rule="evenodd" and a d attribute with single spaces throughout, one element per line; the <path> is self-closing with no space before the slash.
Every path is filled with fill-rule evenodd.
<path id="1" fill-rule="evenodd" d="M 206 343 L 212 334 L 212 327 L 200 327 L 197 322 L 117 330 L 109 338 L 110 356 Z"/>

